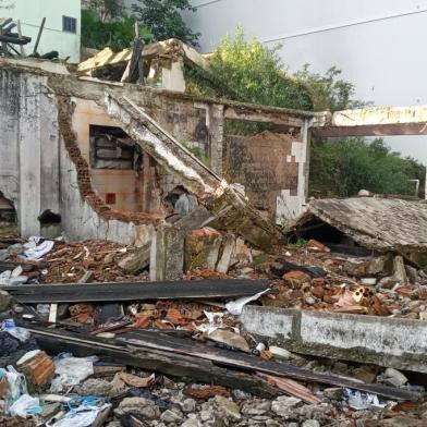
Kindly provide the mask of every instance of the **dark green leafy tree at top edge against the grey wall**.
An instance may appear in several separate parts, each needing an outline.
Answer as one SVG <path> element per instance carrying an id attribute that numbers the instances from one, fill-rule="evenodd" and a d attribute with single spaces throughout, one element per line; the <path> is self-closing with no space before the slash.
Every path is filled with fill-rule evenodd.
<path id="1" fill-rule="evenodd" d="M 188 0 L 136 0 L 132 5 L 137 21 L 148 26 L 157 41 L 178 38 L 188 45 L 197 46 L 198 33 L 185 24 L 181 12 L 196 9 Z"/>

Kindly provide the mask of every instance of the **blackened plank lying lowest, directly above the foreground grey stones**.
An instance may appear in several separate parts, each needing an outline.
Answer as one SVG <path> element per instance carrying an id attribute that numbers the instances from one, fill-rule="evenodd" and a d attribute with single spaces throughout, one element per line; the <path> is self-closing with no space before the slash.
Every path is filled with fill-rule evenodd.
<path id="1" fill-rule="evenodd" d="M 144 370 L 154 370 L 172 377 L 190 377 L 202 383 L 246 390 L 266 399 L 281 394 L 279 389 L 258 377 L 222 368 L 198 357 L 151 349 L 126 349 L 123 345 L 109 344 L 106 340 L 95 337 L 82 338 L 75 333 L 47 330 L 30 325 L 25 327 L 37 340 L 40 349 L 51 355 L 61 351 L 70 351 L 75 356 L 82 357 L 98 355 Z"/>

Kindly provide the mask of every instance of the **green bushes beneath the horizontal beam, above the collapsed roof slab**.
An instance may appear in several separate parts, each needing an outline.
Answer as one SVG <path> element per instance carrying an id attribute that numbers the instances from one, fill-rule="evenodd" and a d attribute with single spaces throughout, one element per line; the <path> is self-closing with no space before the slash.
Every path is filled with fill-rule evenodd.
<path id="1" fill-rule="evenodd" d="M 424 188 L 425 167 L 393 152 L 382 139 L 317 141 L 312 144 L 309 188 L 322 197 L 350 197 L 359 190 L 378 194 L 414 195 L 418 179 Z"/>

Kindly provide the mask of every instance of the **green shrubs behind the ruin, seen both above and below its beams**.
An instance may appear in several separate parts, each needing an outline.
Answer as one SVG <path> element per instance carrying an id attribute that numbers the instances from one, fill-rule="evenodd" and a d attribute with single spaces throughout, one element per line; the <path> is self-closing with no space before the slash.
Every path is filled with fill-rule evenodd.
<path id="1" fill-rule="evenodd" d="M 312 73 L 306 65 L 291 75 L 278 56 L 281 46 L 268 48 L 257 39 L 246 40 L 242 29 L 234 39 L 227 36 L 209 57 L 208 70 L 186 69 L 188 91 L 315 111 L 338 111 L 364 103 L 354 99 L 353 84 L 341 78 L 340 70 Z M 229 123 L 228 133 L 253 133 L 273 126 Z M 280 132 L 280 131 L 278 131 Z M 419 180 L 424 188 L 425 167 L 394 152 L 382 139 L 314 139 L 310 156 L 313 195 L 354 196 L 362 188 L 380 194 L 414 195 Z"/>

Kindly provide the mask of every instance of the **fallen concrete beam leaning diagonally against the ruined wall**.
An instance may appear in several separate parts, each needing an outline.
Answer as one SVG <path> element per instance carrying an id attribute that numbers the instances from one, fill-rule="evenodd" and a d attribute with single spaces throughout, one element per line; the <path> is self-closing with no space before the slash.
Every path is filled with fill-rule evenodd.
<path id="1" fill-rule="evenodd" d="M 125 97 L 106 94 L 107 112 L 158 163 L 181 180 L 221 223 L 255 246 L 268 249 L 283 237 L 279 229 L 252 207 L 224 180 L 167 133 L 144 109 Z M 227 216 L 221 213 L 227 210 Z"/>

